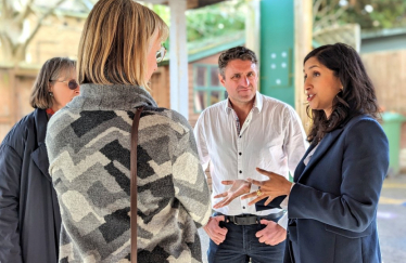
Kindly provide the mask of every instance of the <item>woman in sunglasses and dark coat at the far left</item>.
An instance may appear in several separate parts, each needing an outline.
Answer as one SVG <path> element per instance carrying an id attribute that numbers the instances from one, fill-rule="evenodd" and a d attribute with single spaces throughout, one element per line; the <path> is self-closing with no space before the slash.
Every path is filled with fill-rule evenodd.
<path id="1" fill-rule="evenodd" d="M 75 62 L 47 61 L 34 83 L 35 110 L 0 145 L 0 262 L 56 262 L 61 215 L 45 144 L 51 116 L 79 94 Z"/>

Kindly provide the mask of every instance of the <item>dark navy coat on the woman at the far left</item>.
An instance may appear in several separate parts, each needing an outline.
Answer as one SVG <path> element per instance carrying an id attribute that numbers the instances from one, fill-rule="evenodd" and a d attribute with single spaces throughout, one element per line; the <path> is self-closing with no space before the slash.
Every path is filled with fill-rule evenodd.
<path id="1" fill-rule="evenodd" d="M 36 109 L 0 146 L 0 262 L 58 262 L 61 215 L 48 173 L 47 113 Z"/>

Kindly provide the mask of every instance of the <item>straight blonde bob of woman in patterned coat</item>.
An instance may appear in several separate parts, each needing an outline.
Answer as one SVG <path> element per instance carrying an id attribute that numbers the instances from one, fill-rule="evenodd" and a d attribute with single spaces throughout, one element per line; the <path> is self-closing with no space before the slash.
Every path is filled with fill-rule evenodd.
<path id="1" fill-rule="evenodd" d="M 78 82 L 148 88 L 147 55 L 153 37 L 165 41 L 168 27 L 150 9 L 132 0 L 100 0 L 81 34 Z"/>

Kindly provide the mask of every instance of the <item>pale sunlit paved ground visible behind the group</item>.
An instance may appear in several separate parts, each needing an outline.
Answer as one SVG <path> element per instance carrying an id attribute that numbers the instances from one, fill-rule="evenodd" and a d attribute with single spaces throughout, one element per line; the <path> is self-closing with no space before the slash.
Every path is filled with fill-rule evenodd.
<path id="1" fill-rule="evenodd" d="M 383 183 L 378 207 L 378 232 L 383 263 L 406 263 L 406 174 Z M 199 229 L 203 262 L 207 262 L 208 237 Z"/>

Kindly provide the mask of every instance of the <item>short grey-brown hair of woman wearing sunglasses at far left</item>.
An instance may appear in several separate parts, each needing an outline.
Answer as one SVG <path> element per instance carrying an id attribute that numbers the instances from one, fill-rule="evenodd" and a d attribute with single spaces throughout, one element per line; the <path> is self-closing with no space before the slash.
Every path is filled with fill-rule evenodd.
<path id="1" fill-rule="evenodd" d="M 52 97 L 49 94 L 49 86 L 60 77 L 67 77 L 69 74 L 75 73 L 75 70 L 76 62 L 67 57 L 53 57 L 46 61 L 31 88 L 31 94 L 29 95 L 31 107 L 51 108 Z"/>

